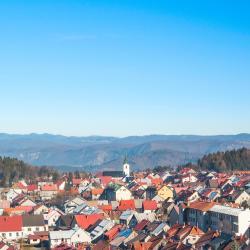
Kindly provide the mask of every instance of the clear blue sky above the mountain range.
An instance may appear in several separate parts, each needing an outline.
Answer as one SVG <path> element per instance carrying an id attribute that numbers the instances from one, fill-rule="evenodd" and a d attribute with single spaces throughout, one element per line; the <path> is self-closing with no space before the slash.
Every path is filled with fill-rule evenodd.
<path id="1" fill-rule="evenodd" d="M 0 132 L 250 132 L 249 13 L 249 0 L 1 0 Z"/>

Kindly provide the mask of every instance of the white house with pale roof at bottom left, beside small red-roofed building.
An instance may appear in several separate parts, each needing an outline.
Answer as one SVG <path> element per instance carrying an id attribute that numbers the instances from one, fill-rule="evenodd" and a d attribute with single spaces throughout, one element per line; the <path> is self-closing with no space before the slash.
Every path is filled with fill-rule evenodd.
<path id="1" fill-rule="evenodd" d="M 51 248 L 60 245 L 61 243 L 75 246 L 78 243 L 91 242 L 89 233 L 78 227 L 66 231 L 51 231 L 49 233 L 49 238 Z"/>

